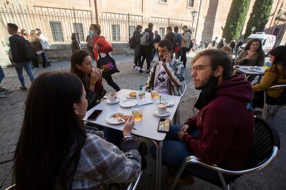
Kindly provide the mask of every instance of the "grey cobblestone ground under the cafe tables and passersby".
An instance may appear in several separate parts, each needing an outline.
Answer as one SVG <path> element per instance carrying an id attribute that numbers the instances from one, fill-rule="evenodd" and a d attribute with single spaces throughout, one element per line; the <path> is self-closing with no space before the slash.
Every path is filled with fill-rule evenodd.
<path id="1" fill-rule="evenodd" d="M 193 55 L 189 55 L 188 60 Z M 137 84 L 144 83 L 146 81 L 147 74 L 140 74 L 133 70 L 133 57 L 132 56 L 115 56 L 117 65 L 120 69 L 120 73 L 114 74 L 114 81 L 120 85 L 122 89 L 137 89 Z M 155 58 L 157 60 L 157 58 Z M 182 98 L 180 103 L 180 120 L 184 122 L 189 116 L 193 115 L 193 104 L 198 96 L 198 91 L 193 88 L 191 83 L 191 76 L 189 74 L 190 65 L 187 65 L 186 82 L 187 92 Z M 52 63 L 51 67 L 47 69 L 39 69 L 34 71 L 35 76 L 52 70 L 65 70 L 70 69 L 69 62 Z M 4 69 L 6 78 L 3 79 L 1 86 L 8 89 L 12 89 L 12 93 L 7 94 L 6 98 L 0 99 L 0 189 L 5 189 L 11 184 L 12 176 L 12 164 L 15 147 L 21 131 L 21 123 L 23 120 L 23 112 L 26 103 L 27 92 L 19 90 L 19 80 L 15 72 L 14 67 L 8 67 Z M 28 76 L 24 72 L 27 87 L 30 86 Z M 104 81 L 104 87 L 107 91 L 111 91 L 110 86 Z M 251 173 L 240 177 L 236 182 L 231 185 L 232 189 L 285 189 L 286 187 L 286 149 L 283 146 L 286 141 L 286 109 L 280 109 L 280 112 L 276 114 L 274 118 L 270 118 L 274 127 L 279 132 L 281 149 L 274 163 L 269 165 L 266 169 Z M 148 147 L 151 147 L 152 143 L 149 140 L 140 138 L 138 140 L 144 140 Z M 142 182 L 140 182 L 138 189 L 154 189 L 155 187 L 155 161 L 151 158 L 150 153 L 146 156 L 148 167 L 144 171 Z M 162 189 L 169 189 L 164 174 L 166 168 L 162 169 Z M 179 189 L 218 189 L 218 187 L 208 184 L 202 180 L 195 178 L 195 184 L 192 186 L 182 186 Z"/>

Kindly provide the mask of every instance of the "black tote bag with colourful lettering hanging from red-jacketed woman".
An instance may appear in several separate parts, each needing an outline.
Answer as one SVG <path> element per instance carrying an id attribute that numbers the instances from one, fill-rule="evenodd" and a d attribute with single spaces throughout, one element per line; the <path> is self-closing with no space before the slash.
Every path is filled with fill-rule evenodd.
<path id="1" fill-rule="evenodd" d="M 97 68 L 102 71 L 102 76 L 108 76 L 114 74 L 115 72 L 120 72 L 117 69 L 115 60 L 111 57 L 109 53 L 106 56 L 102 57 L 100 53 L 98 53 L 99 59 L 97 61 Z"/>

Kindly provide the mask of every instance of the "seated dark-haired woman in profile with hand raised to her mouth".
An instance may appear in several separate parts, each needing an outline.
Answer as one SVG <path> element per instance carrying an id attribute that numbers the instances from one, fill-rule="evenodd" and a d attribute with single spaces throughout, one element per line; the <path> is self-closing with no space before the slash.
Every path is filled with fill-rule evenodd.
<path id="1" fill-rule="evenodd" d="M 102 86 L 102 72 L 95 70 L 93 60 L 86 50 L 77 50 L 70 59 L 70 72 L 76 74 L 84 84 L 88 109 L 95 107 L 106 91 Z"/>

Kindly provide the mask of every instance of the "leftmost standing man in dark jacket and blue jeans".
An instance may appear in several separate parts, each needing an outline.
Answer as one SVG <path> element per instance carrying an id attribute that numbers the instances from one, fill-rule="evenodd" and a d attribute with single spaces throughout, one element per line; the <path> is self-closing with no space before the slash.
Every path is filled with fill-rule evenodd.
<path id="1" fill-rule="evenodd" d="M 25 68 L 28 76 L 30 77 L 30 81 L 34 81 L 35 77 L 32 74 L 32 66 L 31 60 L 26 55 L 25 43 L 26 39 L 18 34 L 18 26 L 14 23 L 7 24 L 8 33 L 12 36 L 9 38 L 10 48 L 12 53 L 13 61 L 15 62 L 15 69 L 17 71 L 17 75 L 19 81 L 21 83 L 20 89 L 27 90 L 25 81 L 23 78 L 23 67 Z"/>

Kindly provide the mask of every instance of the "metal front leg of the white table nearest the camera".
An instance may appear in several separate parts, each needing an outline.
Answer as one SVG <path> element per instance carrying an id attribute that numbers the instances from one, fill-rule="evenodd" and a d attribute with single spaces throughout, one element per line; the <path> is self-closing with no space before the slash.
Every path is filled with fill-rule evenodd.
<path id="1" fill-rule="evenodd" d="M 156 146 L 156 190 L 161 189 L 162 176 L 162 141 L 152 140 Z"/>

